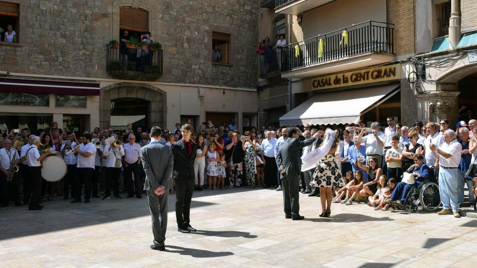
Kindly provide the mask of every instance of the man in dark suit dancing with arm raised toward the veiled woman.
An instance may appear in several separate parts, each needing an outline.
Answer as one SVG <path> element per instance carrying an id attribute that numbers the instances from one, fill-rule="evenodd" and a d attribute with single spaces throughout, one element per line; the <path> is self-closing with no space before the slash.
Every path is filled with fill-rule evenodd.
<path id="1" fill-rule="evenodd" d="M 321 132 L 322 134 L 323 132 Z M 302 169 L 302 149 L 317 140 L 319 132 L 311 138 L 300 141 L 300 130 L 296 127 L 287 129 L 288 139 L 280 146 L 276 157 L 277 166 L 283 175 L 283 209 L 285 218 L 302 220 L 305 217 L 299 214 L 300 172 Z"/>

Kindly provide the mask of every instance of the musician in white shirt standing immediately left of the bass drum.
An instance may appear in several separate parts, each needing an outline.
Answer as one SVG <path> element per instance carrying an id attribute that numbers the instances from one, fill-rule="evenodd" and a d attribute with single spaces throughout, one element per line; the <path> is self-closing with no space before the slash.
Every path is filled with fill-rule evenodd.
<path id="1" fill-rule="evenodd" d="M 40 161 L 46 156 L 50 155 L 51 151 L 46 151 L 40 155 L 38 146 L 40 145 L 40 137 L 34 136 L 31 147 L 26 151 L 26 161 L 28 163 L 29 174 L 31 178 L 31 201 L 28 205 L 28 210 L 40 210 L 40 195 L 41 195 L 41 164 Z"/>

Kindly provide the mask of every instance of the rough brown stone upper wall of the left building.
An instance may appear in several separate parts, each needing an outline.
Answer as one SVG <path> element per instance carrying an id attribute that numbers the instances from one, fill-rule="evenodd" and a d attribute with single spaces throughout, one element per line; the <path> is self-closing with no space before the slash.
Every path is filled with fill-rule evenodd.
<path id="1" fill-rule="evenodd" d="M 157 81 L 255 86 L 258 6 L 254 0 L 9 0 L 20 4 L 21 43 L 0 45 L 0 70 L 111 78 L 105 44 L 119 39 L 119 6 L 150 12 L 162 44 Z M 212 64 L 212 32 L 231 34 L 230 64 Z"/>

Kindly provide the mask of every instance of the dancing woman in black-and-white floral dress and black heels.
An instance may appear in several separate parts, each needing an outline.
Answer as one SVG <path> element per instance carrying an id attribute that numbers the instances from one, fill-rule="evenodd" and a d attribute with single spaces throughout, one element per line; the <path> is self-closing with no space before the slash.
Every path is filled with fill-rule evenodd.
<path id="1" fill-rule="evenodd" d="M 313 181 L 311 182 L 312 186 L 319 187 L 319 198 L 321 200 L 322 209 L 319 216 L 327 218 L 331 214 L 333 187 L 343 187 L 345 185 L 341 171 L 334 161 L 334 154 L 338 147 L 339 139 L 332 138 L 330 142 L 332 142 L 331 147 L 326 155 L 319 161 L 317 169 L 313 174 Z M 321 144 L 323 145 L 323 143 Z"/>

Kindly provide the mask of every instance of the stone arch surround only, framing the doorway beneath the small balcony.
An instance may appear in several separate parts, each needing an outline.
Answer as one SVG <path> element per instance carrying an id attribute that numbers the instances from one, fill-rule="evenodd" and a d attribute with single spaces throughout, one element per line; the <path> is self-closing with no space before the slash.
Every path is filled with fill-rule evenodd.
<path id="1" fill-rule="evenodd" d="M 99 125 L 107 128 L 111 122 L 111 100 L 133 98 L 149 101 L 148 129 L 152 126 L 166 127 L 167 99 L 165 91 L 143 83 L 116 83 L 101 88 Z"/>

